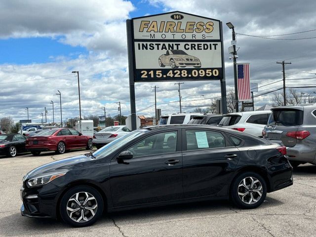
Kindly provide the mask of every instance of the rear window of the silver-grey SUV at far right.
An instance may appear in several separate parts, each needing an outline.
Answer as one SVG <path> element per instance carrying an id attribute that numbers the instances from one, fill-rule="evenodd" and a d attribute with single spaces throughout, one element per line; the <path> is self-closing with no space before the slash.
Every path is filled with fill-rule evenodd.
<path id="1" fill-rule="evenodd" d="M 303 123 L 302 110 L 274 110 L 269 117 L 268 125 L 298 126 Z"/>

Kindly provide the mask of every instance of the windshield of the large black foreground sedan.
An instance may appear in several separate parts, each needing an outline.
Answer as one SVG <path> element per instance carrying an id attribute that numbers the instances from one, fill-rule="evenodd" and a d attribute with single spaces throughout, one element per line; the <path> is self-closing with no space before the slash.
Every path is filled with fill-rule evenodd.
<path id="1" fill-rule="evenodd" d="M 100 148 L 99 150 L 95 151 L 93 153 L 93 156 L 97 159 L 109 156 L 111 153 L 116 151 L 118 148 L 124 146 L 125 144 L 127 144 L 131 140 L 135 139 L 136 137 L 143 135 L 144 132 L 149 132 L 149 130 L 142 129 L 142 130 L 132 131 L 132 132 L 128 133 L 127 135 L 122 136 L 122 137 L 108 143 L 107 145 Z"/>

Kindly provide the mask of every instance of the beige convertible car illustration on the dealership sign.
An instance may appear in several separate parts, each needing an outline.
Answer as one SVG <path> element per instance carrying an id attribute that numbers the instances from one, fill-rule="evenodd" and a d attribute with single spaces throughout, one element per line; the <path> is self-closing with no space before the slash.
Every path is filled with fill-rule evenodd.
<path id="1" fill-rule="evenodd" d="M 183 50 L 167 50 L 165 54 L 159 57 L 158 64 L 162 68 L 165 66 L 170 66 L 171 68 L 201 67 L 201 62 L 197 57 L 188 55 Z"/>

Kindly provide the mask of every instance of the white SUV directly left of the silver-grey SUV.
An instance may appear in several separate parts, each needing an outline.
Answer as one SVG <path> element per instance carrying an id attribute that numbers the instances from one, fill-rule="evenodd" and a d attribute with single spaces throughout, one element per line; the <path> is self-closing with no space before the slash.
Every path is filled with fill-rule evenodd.
<path id="1" fill-rule="evenodd" d="M 262 130 L 267 125 L 270 110 L 247 111 L 224 115 L 218 125 L 262 137 Z"/>

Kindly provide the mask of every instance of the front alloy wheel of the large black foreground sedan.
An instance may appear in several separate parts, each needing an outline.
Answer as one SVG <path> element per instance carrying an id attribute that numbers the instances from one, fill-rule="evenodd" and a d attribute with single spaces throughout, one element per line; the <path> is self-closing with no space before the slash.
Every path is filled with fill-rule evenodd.
<path id="1" fill-rule="evenodd" d="M 97 213 L 96 198 L 87 193 L 79 192 L 70 197 L 67 202 L 67 214 L 75 222 L 87 222 Z"/>

